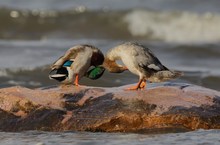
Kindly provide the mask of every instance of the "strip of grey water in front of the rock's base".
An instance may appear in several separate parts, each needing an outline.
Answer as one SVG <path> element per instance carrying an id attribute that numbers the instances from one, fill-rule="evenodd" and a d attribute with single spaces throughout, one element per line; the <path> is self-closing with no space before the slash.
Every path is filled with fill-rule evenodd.
<path id="1" fill-rule="evenodd" d="M 219 145 L 220 131 L 198 130 L 169 134 L 1 132 L 0 139 L 1 145 Z"/>

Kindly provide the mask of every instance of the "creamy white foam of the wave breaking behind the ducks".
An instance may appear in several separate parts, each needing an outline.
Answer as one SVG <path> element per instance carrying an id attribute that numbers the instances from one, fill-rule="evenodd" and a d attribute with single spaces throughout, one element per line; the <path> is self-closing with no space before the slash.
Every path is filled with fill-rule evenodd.
<path id="1" fill-rule="evenodd" d="M 124 21 L 133 36 L 178 43 L 220 41 L 219 14 L 134 10 Z"/>

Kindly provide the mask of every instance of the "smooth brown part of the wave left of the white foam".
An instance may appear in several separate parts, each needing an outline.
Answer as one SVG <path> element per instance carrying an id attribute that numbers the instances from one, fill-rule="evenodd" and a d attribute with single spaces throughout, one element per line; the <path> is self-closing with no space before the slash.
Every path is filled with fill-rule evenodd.
<path id="1" fill-rule="evenodd" d="M 0 39 L 128 38 L 124 12 L 0 9 Z"/>

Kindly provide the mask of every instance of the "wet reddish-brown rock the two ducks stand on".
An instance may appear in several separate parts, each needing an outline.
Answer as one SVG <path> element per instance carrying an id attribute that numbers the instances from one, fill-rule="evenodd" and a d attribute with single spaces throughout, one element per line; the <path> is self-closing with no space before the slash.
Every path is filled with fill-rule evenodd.
<path id="1" fill-rule="evenodd" d="M 220 129 L 220 92 L 165 83 L 128 86 L 0 89 L 1 131 L 177 132 Z"/>

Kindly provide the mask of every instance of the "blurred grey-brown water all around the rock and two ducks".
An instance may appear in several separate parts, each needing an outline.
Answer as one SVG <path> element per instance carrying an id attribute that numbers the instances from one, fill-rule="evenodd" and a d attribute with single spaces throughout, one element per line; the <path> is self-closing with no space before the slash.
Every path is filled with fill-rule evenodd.
<path id="1" fill-rule="evenodd" d="M 219 6 L 218 0 L 0 0 L 0 88 L 58 84 L 48 78 L 49 65 L 73 45 L 91 44 L 105 53 L 122 42 L 137 41 L 149 47 L 170 69 L 185 72 L 184 77 L 174 82 L 220 90 Z M 106 71 L 99 80 L 83 78 L 81 84 L 112 87 L 137 80 L 129 72 Z M 31 134 L 36 132 L 27 135 L 27 139 L 29 133 L 1 133 L 0 144 L 14 144 L 15 139 L 19 144 L 33 144 L 35 138 Z M 39 134 L 37 137 L 47 140 L 46 144 L 54 136 L 52 142 L 59 144 L 66 135 L 74 144 L 162 145 L 189 140 L 191 145 L 220 141 L 218 130 L 153 137 L 85 133 L 88 140 L 77 132 Z"/>

